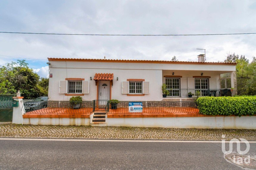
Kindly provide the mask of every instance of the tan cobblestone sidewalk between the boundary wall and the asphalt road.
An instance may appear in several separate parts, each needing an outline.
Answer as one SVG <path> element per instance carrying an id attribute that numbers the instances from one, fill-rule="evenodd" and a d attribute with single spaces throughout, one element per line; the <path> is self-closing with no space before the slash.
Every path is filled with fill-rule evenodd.
<path id="1" fill-rule="evenodd" d="M 15 125 L 12 123 L 0 123 L 0 137 L 16 138 L 221 140 L 222 134 L 226 136 L 226 140 L 244 138 L 248 141 L 256 141 L 256 130 Z"/>

